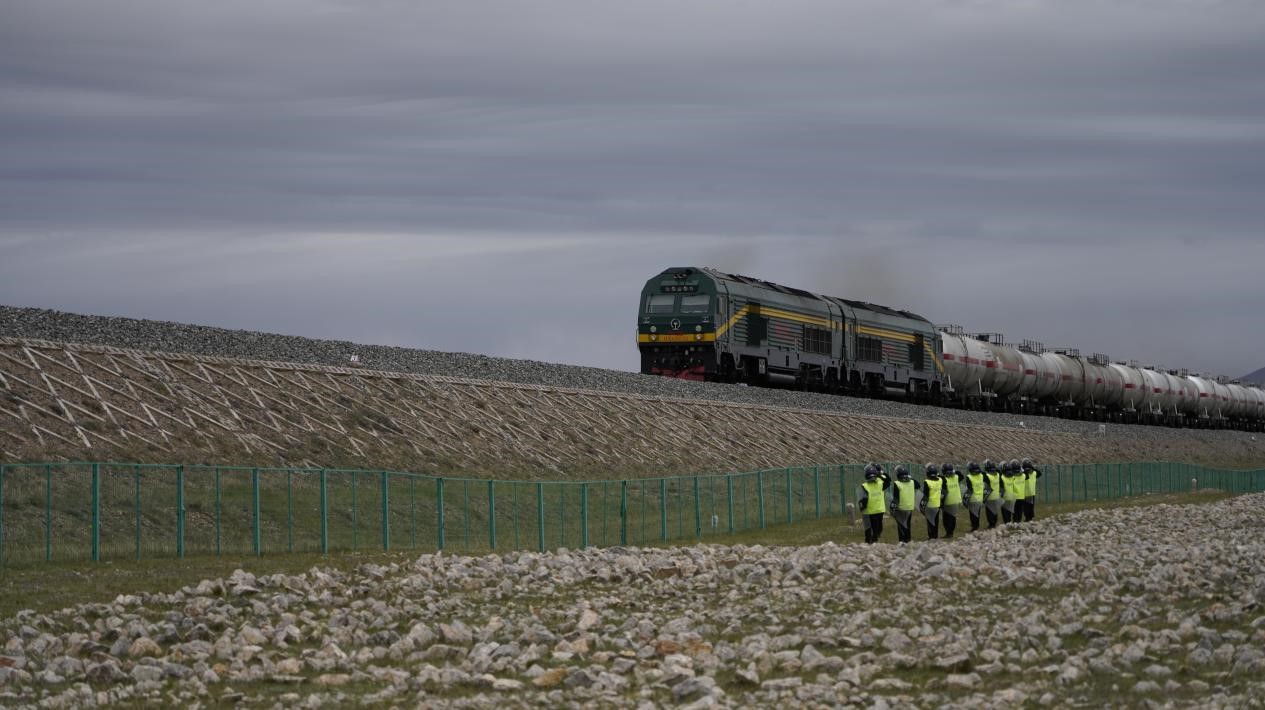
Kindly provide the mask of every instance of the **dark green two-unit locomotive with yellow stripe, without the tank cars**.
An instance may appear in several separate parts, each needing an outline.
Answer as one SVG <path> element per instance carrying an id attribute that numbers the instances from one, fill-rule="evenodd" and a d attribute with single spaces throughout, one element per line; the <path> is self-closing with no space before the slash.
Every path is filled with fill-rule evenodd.
<path id="1" fill-rule="evenodd" d="M 941 339 L 921 315 L 713 268 L 641 290 L 641 372 L 940 401 Z"/>

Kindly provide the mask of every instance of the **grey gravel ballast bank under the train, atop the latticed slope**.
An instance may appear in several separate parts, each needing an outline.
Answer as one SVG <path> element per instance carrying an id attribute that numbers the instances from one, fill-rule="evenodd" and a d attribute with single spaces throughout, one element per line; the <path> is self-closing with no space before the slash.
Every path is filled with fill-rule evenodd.
<path id="1" fill-rule="evenodd" d="M 993 427 L 1018 427 L 1022 424 L 1025 428 L 1045 432 L 1093 433 L 1098 428 L 1094 423 L 1047 416 L 964 411 L 791 390 L 687 382 L 595 367 L 497 358 L 471 353 L 372 346 L 344 340 L 320 340 L 295 335 L 226 330 L 205 325 L 158 320 L 76 315 L 53 310 L 3 305 L 0 305 L 0 337 L 330 366 L 348 366 L 350 357 L 354 354 L 359 367 L 387 372 L 443 375 L 657 397 L 705 399 L 736 404 L 816 409 L 822 411 Z M 629 348 L 634 347 L 630 340 Z M 1156 427 L 1127 427 L 1125 428 L 1126 432 L 1120 432 L 1118 429 L 1121 428 L 1114 425 L 1108 427 L 1108 435 L 1127 435 L 1133 439 L 1147 437 L 1157 440 L 1173 435 L 1171 429 Z M 1200 443 L 1217 442 L 1235 437 L 1236 433 L 1202 432 L 1198 434 L 1198 440 Z"/>

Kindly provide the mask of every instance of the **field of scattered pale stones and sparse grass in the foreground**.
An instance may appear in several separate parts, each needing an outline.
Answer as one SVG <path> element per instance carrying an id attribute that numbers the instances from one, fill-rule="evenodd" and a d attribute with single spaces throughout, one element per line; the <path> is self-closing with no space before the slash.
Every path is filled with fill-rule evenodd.
<path id="1" fill-rule="evenodd" d="M 907 547 L 424 556 L 0 625 L 0 705 L 1243 707 L 1265 495 Z"/>

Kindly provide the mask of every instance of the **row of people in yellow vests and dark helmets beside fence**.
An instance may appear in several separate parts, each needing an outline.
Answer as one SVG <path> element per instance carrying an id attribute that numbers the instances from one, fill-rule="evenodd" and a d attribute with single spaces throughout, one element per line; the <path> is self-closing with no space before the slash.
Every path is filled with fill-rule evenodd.
<path id="1" fill-rule="evenodd" d="M 878 463 L 865 467 L 865 480 L 856 491 L 856 510 L 861 515 L 865 542 L 877 543 L 883 534 L 883 515 L 896 521 L 897 539 L 903 544 L 912 538 L 913 511 L 927 521 L 927 539 L 950 539 L 958 529 L 958 513 L 965 508 L 970 532 L 984 518 L 989 529 L 1002 523 L 1036 519 L 1036 480 L 1041 471 L 1031 458 L 1012 458 L 1001 466 L 985 458 L 983 466 L 972 461 L 966 471 L 953 463 L 929 463 L 922 481 L 915 481 L 904 466 L 896 467 L 896 478 Z"/>

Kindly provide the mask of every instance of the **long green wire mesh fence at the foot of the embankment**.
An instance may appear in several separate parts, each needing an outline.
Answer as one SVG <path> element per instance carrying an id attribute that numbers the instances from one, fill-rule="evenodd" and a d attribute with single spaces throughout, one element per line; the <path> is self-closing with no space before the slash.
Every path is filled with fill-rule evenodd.
<path id="1" fill-rule="evenodd" d="M 891 471 L 894 464 L 888 464 Z M 913 468 L 913 467 L 911 467 Z M 610 481 L 142 463 L 0 464 L 0 566 L 359 549 L 486 552 L 719 540 L 848 514 L 861 464 Z M 1265 470 L 1042 467 L 1039 500 L 1265 490 Z"/>

